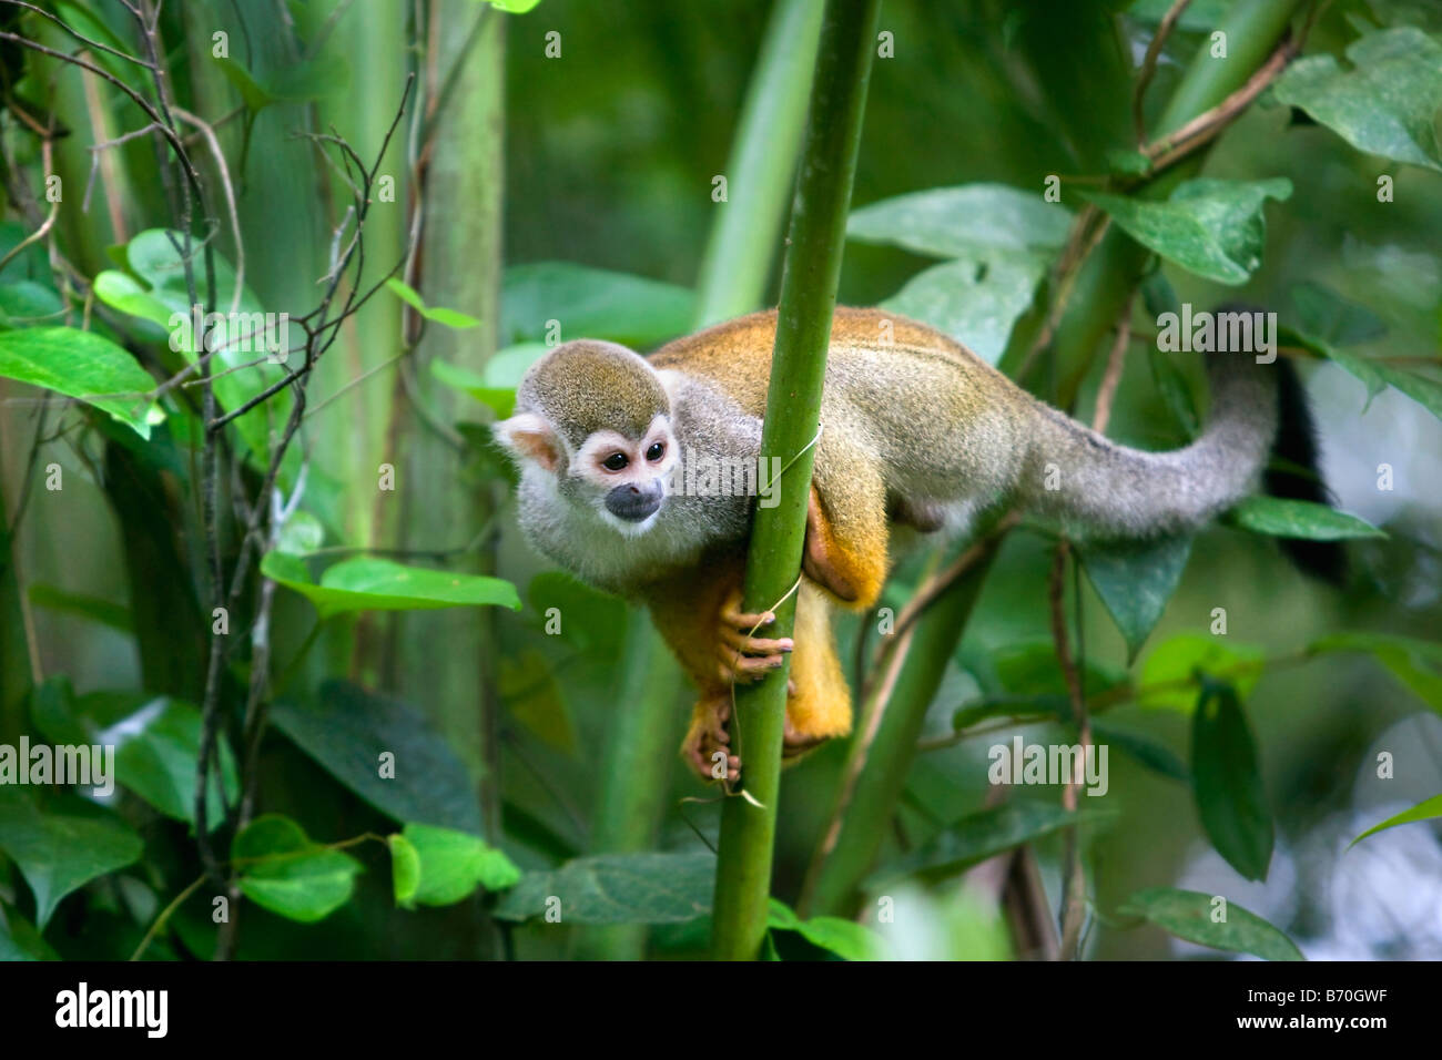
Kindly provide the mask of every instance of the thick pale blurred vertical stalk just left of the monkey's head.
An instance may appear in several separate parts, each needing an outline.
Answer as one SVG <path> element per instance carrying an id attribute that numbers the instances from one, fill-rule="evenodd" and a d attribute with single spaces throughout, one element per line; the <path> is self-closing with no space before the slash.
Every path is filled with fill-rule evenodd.
<path id="1" fill-rule="evenodd" d="M 411 363 L 398 371 L 407 374 L 415 401 L 448 427 L 476 405 L 443 387 L 431 363 L 446 361 L 479 375 L 496 350 L 500 330 L 506 17 L 485 13 L 485 6 L 473 0 L 446 0 L 433 13 L 441 27 L 437 81 L 444 84 L 448 72 L 460 66 L 454 91 L 434 117 L 415 280 L 430 304 L 470 313 L 480 326 L 457 332 L 428 324 Z M 483 13 L 486 22 L 472 37 Z M 464 545 L 490 519 L 499 500 L 496 490 L 461 485 L 470 454 L 427 424 L 414 404 L 402 402 L 397 414 L 402 415 L 397 438 L 402 547 Z M 483 549 L 482 555 L 457 560 L 456 568 L 495 574 L 495 558 Z M 430 711 L 447 741 L 482 777 L 482 819 L 493 842 L 500 838 L 497 669 L 495 609 L 398 616 L 395 686 Z"/>

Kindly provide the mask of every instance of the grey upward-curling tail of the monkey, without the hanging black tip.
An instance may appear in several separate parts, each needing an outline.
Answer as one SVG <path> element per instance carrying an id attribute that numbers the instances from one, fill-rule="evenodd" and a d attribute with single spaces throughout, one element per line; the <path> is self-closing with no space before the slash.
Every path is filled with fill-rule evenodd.
<path id="1" fill-rule="evenodd" d="M 1022 472 L 1027 506 L 1077 539 L 1149 538 L 1195 529 L 1253 492 L 1278 433 L 1282 359 L 1207 353 L 1211 415 L 1171 453 L 1119 446 L 1041 408 Z M 1293 395 L 1299 391 L 1289 389 Z"/>

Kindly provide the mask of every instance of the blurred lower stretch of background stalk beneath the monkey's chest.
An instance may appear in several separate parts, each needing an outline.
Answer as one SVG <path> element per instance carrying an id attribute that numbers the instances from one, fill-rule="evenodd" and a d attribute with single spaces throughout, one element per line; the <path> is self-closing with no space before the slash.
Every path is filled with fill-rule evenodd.
<path id="1" fill-rule="evenodd" d="M 626 658 L 607 733 L 591 826 L 593 854 L 649 849 L 656 841 L 685 714 L 681 668 L 642 609 L 626 624 Z M 578 936 L 580 960 L 639 960 L 646 924 L 594 927 Z"/>

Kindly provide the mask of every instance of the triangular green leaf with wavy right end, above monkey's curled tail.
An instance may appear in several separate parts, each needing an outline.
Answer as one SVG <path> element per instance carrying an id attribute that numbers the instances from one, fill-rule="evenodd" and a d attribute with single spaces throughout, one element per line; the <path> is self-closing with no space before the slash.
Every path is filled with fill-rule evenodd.
<path id="1" fill-rule="evenodd" d="M 1180 185 L 1167 202 L 1077 193 L 1168 261 L 1207 280 L 1237 286 L 1250 280 L 1262 264 L 1266 241 L 1262 203 L 1291 198 L 1292 182 L 1197 177 Z"/>

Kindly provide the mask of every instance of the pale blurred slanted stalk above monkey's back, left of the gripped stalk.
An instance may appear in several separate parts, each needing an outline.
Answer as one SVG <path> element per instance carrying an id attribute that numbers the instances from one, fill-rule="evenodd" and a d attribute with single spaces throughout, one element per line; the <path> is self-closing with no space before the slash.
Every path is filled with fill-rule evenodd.
<path id="1" fill-rule="evenodd" d="M 820 13 L 816 0 L 771 9 L 727 160 L 728 200 L 718 203 L 701 260 L 696 327 L 761 306 L 800 153 Z"/>

